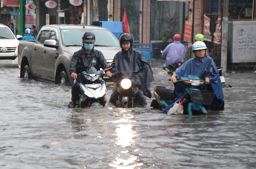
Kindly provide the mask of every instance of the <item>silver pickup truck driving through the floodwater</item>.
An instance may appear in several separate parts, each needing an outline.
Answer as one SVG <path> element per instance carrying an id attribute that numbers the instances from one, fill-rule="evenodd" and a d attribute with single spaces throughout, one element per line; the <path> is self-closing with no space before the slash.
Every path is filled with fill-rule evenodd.
<path id="1" fill-rule="evenodd" d="M 35 41 L 20 41 L 18 64 L 20 77 L 40 78 L 61 85 L 72 85 L 69 66 L 72 55 L 82 48 L 85 31 L 95 34 L 95 49 L 108 63 L 121 51 L 119 41 L 106 28 L 83 25 L 43 26 Z"/>

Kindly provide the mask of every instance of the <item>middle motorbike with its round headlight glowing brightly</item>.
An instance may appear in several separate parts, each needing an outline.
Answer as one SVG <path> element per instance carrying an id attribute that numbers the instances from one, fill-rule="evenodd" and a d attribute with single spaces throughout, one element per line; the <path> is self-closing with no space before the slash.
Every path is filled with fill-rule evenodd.
<path id="1" fill-rule="evenodd" d="M 135 105 L 138 105 L 138 99 L 136 94 L 139 91 L 139 88 L 130 79 L 121 79 L 117 85 L 119 98 L 117 99 L 116 106 L 122 108 L 133 108 Z"/>

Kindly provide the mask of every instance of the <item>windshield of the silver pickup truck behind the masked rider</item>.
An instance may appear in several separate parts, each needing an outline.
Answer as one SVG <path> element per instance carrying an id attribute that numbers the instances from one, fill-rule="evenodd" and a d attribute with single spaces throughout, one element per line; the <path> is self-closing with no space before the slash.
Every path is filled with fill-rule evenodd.
<path id="1" fill-rule="evenodd" d="M 119 46 L 119 41 L 108 30 L 102 29 L 61 29 L 61 38 L 65 46 L 83 46 L 85 31 L 95 34 L 95 46 Z"/>

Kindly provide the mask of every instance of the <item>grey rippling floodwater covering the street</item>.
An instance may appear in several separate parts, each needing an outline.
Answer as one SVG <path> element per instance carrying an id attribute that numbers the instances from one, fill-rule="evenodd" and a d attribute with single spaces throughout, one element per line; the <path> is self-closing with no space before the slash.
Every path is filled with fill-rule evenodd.
<path id="1" fill-rule="evenodd" d="M 173 88 L 163 63 L 152 62 L 152 90 Z M 256 167 L 252 71 L 224 74 L 232 86 L 223 88 L 225 110 L 206 116 L 162 114 L 151 99 L 144 108 L 70 109 L 71 87 L 19 75 L 19 68 L 0 68 L 1 169 Z"/>

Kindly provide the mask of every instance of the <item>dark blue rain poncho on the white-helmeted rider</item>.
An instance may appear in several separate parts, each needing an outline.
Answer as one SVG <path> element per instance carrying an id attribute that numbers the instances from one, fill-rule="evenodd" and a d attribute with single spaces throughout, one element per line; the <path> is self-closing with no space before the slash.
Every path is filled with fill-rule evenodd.
<path id="1" fill-rule="evenodd" d="M 205 57 L 202 60 L 197 59 L 197 57 L 194 57 L 193 59 L 189 59 L 187 62 L 182 64 L 180 68 L 176 70 L 176 72 L 181 77 L 187 77 L 187 75 L 197 75 L 200 79 L 204 79 L 206 75 L 209 74 L 210 68 L 213 68 L 213 73 L 209 75 L 210 84 L 212 88 L 212 92 L 215 93 L 215 97 L 213 99 L 211 110 L 216 109 L 223 109 L 224 108 L 224 94 L 221 86 L 221 79 L 219 77 L 219 72 L 217 70 L 217 67 L 215 65 L 215 62 L 211 57 L 208 57 L 205 55 Z M 176 74 L 176 77 L 178 78 L 179 75 Z M 174 83 L 175 89 L 174 92 L 176 93 L 177 100 L 172 104 L 169 105 L 163 110 L 163 113 L 166 113 L 169 111 L 170 108 L 173 107 L 175 103 L 177 103 L 180 99 L 186 96 L 187 91 L 185 90 L 186 85 L 181 83 Z M 206 90 L 207 85 L 198 86 L 199 90 Z"/>

